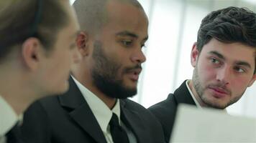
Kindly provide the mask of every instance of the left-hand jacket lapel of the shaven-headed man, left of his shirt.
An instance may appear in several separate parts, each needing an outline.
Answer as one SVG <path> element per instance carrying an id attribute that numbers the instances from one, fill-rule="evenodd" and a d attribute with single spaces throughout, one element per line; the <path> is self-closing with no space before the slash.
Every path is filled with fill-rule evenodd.
<path id="1" fill-rule="evenodd" d="M 101 127 L 91 112 L 88 103 L 83 98 L 76 83 L 70 77 L 70 89 L 62 96 L 59 96 L 60 104 L 71 110 L 70 117 L 76 122 L 87 134 L 89 134 L 96 142 L 106 143 Z"/>

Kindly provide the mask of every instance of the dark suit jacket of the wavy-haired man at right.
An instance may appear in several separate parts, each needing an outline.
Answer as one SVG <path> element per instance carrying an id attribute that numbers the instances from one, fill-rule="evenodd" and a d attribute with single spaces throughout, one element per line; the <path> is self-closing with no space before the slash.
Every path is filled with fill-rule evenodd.
<path id="1" fill-rule="evenodd" d="M 191 97 L 191 94 L 188 92 L 186 81 L 183 82 L 183 84 L 181 84 L 180 87 L 175 90 L 174 94 L 169 94 L 168 98 L 163 102 L 159 102 L 149 108 L 162 124 L 165 134 L 165 142 L 169 142 L 170 140 L 170 134 L 172 132 L 173 123 L 175 121 L 175 114 L 178 104 L 180 103 L 196 105 L 196 103 L 193 101 L 193 98 Z"/>

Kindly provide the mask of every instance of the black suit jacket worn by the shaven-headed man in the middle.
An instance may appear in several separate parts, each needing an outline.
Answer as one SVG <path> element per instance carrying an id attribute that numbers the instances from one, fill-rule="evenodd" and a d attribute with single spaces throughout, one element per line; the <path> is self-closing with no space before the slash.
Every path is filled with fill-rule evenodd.
<path id="1" fill-rule="evenodd" d="M 155 116 L 140 104 L 120 99 L 122 122 L 140 143 L 164 142 Z M 67 93 L 40 99 L 24 113 L 22 134 L 28 143 L 106 143 L 101 128 L 80 90 L 70 79 Z"/>

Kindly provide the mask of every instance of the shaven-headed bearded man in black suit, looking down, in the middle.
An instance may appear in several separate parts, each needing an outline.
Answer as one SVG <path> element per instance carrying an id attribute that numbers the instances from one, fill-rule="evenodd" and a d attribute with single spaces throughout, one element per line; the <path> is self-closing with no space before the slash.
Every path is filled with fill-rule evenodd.
<path id="1" fill-rule="evenodd" d="M 77 0 L 81 24 L 68 93 L 41 99 L 24 114 L 26 142 L 164 142 L 147 109 L 127 99 L 137 93 L 145 61 L 148 20 L 136 0 Z"/>

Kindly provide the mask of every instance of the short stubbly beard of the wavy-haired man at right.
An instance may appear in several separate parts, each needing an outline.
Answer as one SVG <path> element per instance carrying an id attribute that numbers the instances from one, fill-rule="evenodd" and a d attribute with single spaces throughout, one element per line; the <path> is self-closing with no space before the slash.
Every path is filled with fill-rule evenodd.
<path id="1" fill-rule="evenodd" d="M 212 107 L 212 108 L 215 108 L 215 109 L 225 109 L 229 105 L 234 104 L 235 102 L 237 102 L 242 97 L 242 94 L 244 94 L 244 92 L 245 92 L 245 90 L 244 90 L 242 92 L 242 94 L 240 94 L 238 97 L 234 97 L 233 99 L 230 99 L 229 102 L 227 102 L 225 104 L 219 104 L 218 102 L 211 102 L 211 100 L 206 95 L 206 89 L 208 89 L 208 87 L 223 87 L 223 85 L 221 85 L 221 84 L 210 84 L 210 85 L 206 85 L 205 87 L 203 87 L 203 84 L 201 83 L 201 79 L 198 75 L 197 66 L 195 67 L 195 69 L 193 71 L 192 82 L 193 82 L 193 87 L 196 90 L 196 93 L 198 94 L 198 98 L 201 99 L 201 102 L 206 104 L 206 107 Z M 232 92 L 230 92 L 228 90 L 227 90 L 227 92 L 229 93 L 229 95 L 232 95 Z"/>

